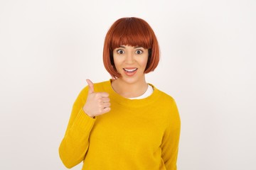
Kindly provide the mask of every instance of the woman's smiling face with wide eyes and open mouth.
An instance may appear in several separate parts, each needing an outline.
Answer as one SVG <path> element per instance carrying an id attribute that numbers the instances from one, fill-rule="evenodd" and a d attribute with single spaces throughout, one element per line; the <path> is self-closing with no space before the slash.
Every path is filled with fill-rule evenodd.
<path id="1" fill-rule="evenodd" d="M 113 51 L 114 66 L 129 84 L 145 81 L 144 71 L 149 52 L 144 47 L 121 45 Z"/>

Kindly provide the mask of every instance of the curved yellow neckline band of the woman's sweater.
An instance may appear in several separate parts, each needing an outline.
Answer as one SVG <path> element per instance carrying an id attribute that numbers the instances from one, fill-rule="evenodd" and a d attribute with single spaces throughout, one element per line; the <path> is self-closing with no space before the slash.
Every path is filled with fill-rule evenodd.
<path id="1" fill-rule="evenodd" d="M 149 84 L 154 89 L 153 93 L 150 96 L 142 99 L 124 98 L 123 96 L 117 94 L 116 91 L 114 91 L 114 89 L 112 88 L 111 82 L 112 82 L 112 79 L 107 81 L 107 91 L 109 91 L 111 99 L 121 104 L 122 106 L 134 107 L 134 108 L 148 106 L 148 105 L 151 105 L 151 103 L 153 103 L 154 101 L 156 101 L 160 96 L 160 91 L 156 89 L 154 85 Z"/>

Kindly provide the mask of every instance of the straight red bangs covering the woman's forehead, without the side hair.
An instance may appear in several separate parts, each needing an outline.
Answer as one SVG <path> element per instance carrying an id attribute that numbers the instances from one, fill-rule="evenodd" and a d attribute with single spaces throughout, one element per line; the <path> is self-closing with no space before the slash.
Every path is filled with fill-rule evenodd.
<path id="1" fill-rule="evenodd" d="M 132 47 L 144 47 L 150 49 L 153 44 L 150 27 L 142 21 L 131 20 L 127 18 L 119 23 L 112 31 L 112 40 L 110 42 L 110 50 L 114 50 L 120 45 L 129 45 Z"/>

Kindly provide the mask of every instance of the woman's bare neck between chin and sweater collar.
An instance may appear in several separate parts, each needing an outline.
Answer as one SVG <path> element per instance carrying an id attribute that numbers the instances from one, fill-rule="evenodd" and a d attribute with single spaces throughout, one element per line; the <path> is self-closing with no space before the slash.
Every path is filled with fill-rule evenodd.
<path id="1" fill-rule="evenodd" d="M 135 98 L 142 96 L 142 94 L 146 92 L 148 84 L 146 84 L 145 79 L 129 84 L 119 78 L 112 80 L 112 88 L 115 92 L 117 92 L 117 94 L 123 96 L 124 98 Z"/>

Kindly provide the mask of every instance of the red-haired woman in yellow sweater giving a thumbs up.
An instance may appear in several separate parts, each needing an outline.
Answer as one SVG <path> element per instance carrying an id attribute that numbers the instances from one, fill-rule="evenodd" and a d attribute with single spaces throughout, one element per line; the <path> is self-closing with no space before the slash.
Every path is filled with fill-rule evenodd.
<path id="1" fill-rule="evenodd" d="M 175 170 L 180 118 L 171 96 L 147 84 L 159 63 L 156 35 L 141 18 L 120 18 L 103 50 L 109 81 L 82 89 L 59 153 L 83 170 Z M 111 103 L 111 106 L 110 106 Z"/>

